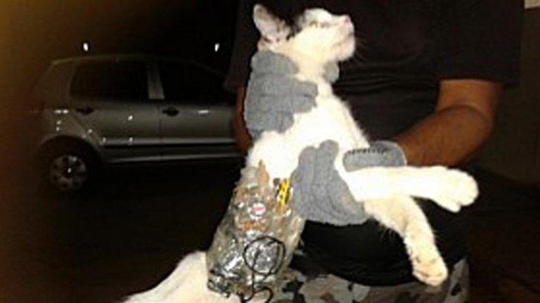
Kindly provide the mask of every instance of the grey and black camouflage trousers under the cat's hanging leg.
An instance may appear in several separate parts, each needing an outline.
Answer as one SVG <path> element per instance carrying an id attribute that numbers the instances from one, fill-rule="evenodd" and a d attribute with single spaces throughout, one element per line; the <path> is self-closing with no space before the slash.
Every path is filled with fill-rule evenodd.
<path id="1" fill-rule="evenodd" d="M 413 282 L 369 287 L 332 274 L 306 276 L 290 269 L 272 303 L 464 303 L 469 288 L 468 264 L 461 260 L 439 288 Z"/>

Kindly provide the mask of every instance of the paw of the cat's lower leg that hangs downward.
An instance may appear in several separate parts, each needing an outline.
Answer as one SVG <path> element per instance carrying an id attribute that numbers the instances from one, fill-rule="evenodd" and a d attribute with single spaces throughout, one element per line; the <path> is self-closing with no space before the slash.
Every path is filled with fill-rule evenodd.
<path id="1" fill-rule="evenodd" d="M 439 286 L 446 280 L 448 269 L 435 245 L 416 245 L 408 250 L 413 276 L 418 280 L 431 286 Z"/>

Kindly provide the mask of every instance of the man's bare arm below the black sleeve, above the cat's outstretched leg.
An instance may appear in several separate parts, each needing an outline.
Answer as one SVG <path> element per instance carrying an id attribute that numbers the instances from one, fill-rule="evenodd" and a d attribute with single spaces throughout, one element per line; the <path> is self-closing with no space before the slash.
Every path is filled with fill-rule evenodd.
<path id="1" fill-rule="evenodd" d="M 478 79 L 443 80 L 435 112 L 394 139 L 415 166 L 456 166 L 487 141 L 503 86 Z"/>

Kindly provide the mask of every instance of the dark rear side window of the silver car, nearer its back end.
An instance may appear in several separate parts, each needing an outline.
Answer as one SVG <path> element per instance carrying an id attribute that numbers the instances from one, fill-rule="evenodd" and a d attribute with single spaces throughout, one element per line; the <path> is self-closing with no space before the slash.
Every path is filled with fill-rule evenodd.
<path id="1" fill-rule="evenodd" d="M 144 62 L 96 62 L 77 67 L 72 79 L 75 97 L 148 99 L 148 80 Z"/>

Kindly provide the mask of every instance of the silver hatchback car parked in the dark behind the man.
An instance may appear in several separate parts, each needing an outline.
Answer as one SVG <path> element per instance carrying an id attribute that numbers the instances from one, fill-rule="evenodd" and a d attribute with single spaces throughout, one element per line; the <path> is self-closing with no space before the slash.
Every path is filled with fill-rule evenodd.
<path id="1" fill-rule="evenodd" d="M 102 164 L 238 157 L 223 75 L 189 60 L 99 55 L 52 62 L 35 89 L 37 150 L 58 191 Z"/>

